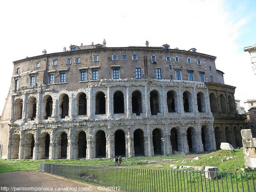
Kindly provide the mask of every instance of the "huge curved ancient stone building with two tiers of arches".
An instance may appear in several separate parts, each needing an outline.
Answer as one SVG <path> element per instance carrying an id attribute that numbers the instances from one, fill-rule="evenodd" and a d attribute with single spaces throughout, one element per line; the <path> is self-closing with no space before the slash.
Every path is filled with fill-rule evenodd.
<path id="1" fill-rule="evenodd" d="M 154 156 L 241 146 L 244 118 L 195 48 L 71 45 L 14 62 L 2 158 Z M 164 140 L 161 140 L 165 138 Z"/>

